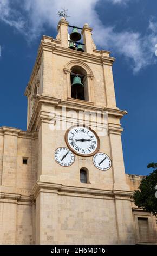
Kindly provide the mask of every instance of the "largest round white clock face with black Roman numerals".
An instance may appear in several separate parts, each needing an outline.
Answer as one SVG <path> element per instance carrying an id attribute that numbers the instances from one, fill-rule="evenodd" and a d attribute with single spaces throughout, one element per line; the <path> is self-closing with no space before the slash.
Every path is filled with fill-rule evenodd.
<path id="1" fill-rule="evenodd" d="M 91 156 L 100 148 L 99 137 L 95 131 L 84 126 L 73 126 L 67 130 L 65 140 L 68 147 L 77 155 Z"/>

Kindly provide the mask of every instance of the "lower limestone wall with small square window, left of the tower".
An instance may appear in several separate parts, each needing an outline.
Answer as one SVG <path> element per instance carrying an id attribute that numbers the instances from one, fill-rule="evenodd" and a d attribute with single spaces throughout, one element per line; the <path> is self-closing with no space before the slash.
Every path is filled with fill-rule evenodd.
<path id="1" fill-rule="evenodd" d="M 35 137 L 19 129 L 0 129 L 0 244 L 30 244 L 31 190 L 36 179 Z M 23 157 L 27 164 L 23 164 Z"/>

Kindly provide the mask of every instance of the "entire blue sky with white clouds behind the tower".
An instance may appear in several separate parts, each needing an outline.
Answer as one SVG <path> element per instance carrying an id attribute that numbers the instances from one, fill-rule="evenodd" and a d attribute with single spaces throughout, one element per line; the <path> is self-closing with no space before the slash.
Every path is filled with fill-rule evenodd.
<path id="1" fill-rule="evenodd" d="M 0 0 L 0 126 L 26 129 L 24 90 L 40 39 L 55 38 L 64 6 L 70 24 L 89 23 L 97 48 L 116 57 L 116 102 L 128 111 L 121 120 L 126 173 L 146 175 L 147 164 L 157 162 L 156 0 Z"/>

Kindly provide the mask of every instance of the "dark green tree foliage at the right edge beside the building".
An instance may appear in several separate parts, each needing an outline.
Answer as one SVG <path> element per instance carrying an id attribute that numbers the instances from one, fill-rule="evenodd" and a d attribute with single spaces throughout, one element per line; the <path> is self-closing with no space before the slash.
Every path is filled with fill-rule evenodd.
<path id="1" fill-rule="evenodd" d="M 154 171 L 142 179 L 138 190 L 134 192 L 134 202 L 139 208 L 142 208 L 148 212 L 152 212 L 153 215 L 157 215 L 157 163 L 149 163 L 148 168 L 153 168 Z"/>

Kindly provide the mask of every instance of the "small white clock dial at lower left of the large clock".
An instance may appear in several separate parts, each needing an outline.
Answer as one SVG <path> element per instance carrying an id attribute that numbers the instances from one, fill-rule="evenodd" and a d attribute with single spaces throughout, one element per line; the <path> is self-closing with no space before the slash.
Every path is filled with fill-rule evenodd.
<path id="1" fill-rule="evenodd" d="M 61 166 L 71 166 L 75 156 L 68 148 L 58 148 L 55 150 L 55 161 Z"/>

